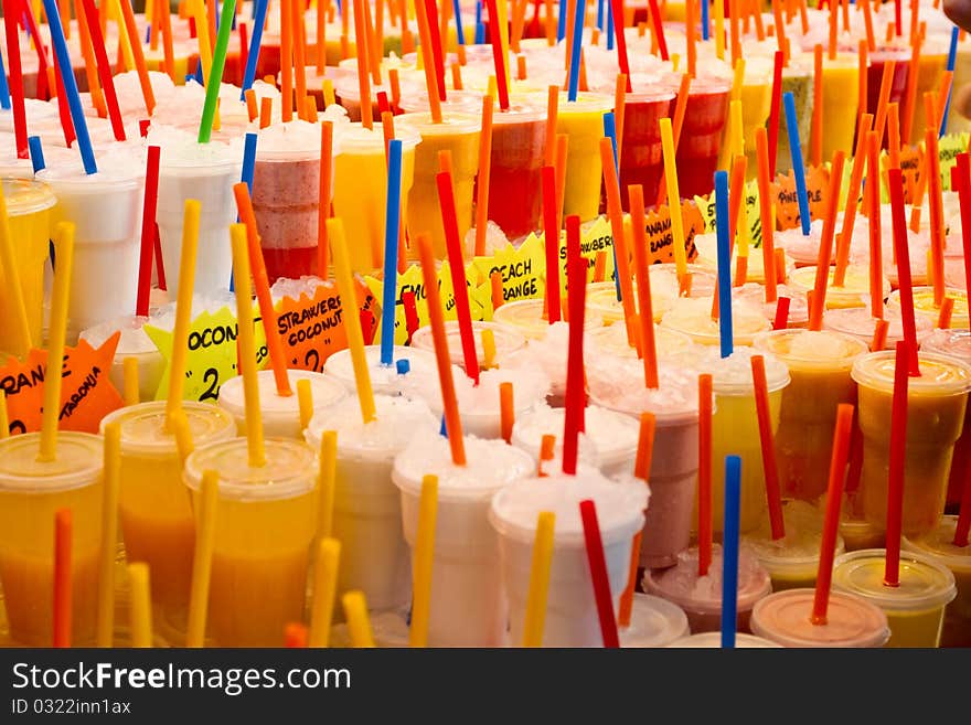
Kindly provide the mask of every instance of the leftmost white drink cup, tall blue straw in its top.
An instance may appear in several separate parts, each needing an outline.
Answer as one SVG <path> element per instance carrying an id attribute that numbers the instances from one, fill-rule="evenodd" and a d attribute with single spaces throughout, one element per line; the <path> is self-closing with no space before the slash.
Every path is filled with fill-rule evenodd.
<path id="1" fill-rule="evenodd" d="M 145 170 L 134 158 L 120 161 L 99 160 L 98 173 L 89 175 L 74 164 L 38 172 L 57 196 L 52 222 L 75 224 L 71 337 L 121 310 L 135 311 Z"/>

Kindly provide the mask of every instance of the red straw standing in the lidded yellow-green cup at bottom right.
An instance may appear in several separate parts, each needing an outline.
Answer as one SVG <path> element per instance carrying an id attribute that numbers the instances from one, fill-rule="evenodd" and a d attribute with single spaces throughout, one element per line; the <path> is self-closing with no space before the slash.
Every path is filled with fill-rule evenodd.
<path id="1" fill-rule="evenodd" d="M 904 462 L 907 456 L 907 358 L 906 340 L 897 343 L 894 367 L 894 407 L 890 413 L 890 465 L 887 482 L 887 558 L 884 585 L 900 585 L 900 535 L 904 522 Z"/>

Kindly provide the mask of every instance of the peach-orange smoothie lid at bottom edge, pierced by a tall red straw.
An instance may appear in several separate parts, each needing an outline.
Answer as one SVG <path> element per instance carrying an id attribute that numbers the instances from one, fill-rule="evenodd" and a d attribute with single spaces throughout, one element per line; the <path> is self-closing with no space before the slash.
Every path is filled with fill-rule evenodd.
<path id="1" fill-rule="evenodd" d="M 830 593 L 826 621 L 814 625 L 814 598 L 813 589 L 773 591 L 753 608 L 751 631 L 782 647 L 883 647 L 890 638 L 879 607 L 851 594 Z"/>

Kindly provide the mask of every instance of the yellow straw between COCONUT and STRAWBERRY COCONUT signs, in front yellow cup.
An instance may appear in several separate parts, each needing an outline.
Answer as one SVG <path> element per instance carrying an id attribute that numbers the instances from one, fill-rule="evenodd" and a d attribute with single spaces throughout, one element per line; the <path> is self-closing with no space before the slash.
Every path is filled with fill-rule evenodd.
<path id="1" fill-rule="evenodd" d="M 249 466 L 266 465 L 263 447 L 263 415 L 259 411 L 259 382 L 256 379 L 256 333 L 253 329 L 253 294 L 249 282 L 249 247 L 246 225 L 231 224 L 233 244 L 233 279 L 236 282 L 236 319 L 239 321 L 239 361 L 243 375 L 243 398 L 246 411 L 246 446 Z"/>

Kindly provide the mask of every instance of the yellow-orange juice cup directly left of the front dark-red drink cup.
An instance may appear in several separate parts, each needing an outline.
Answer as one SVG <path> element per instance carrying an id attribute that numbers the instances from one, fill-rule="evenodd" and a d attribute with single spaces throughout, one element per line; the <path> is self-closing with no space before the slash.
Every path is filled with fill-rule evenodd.
<path id="1" fill-rule="evenodd" d="M 397 127 L 407 126 L 422 136 L 422 142 L 415 150 L 415 182 L 408 202 L 407 223 L 409 230 L 431 234 L 431 245 L 438 259 L 448 256 L 436 181 L 441 171 L 438 154 L 441 151 L 451 153 L 459 238 L 465 239 L 466 233 L 472 227 L 481 125 L 476 116 L 461 113 L 444 114 L 440 124 L 431 122 L 430 113 L 405 114 L 396 124 Z"/>

